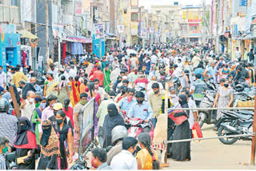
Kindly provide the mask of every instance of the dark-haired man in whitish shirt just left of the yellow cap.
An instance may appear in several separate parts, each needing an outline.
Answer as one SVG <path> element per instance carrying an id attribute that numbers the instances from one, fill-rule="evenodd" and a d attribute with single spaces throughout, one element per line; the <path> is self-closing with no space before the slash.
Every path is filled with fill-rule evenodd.
<path id="1" fill-rule="evenodd" d="M 47 101 L 49 103 L 49 106 L 46 107 L 46 109 L 42 110 L 42 121 L 45 121 L 49 117 L 54 115 L 54 104 L 57 103 L 58 97 L 50 94 L 47 97 Z"/>

